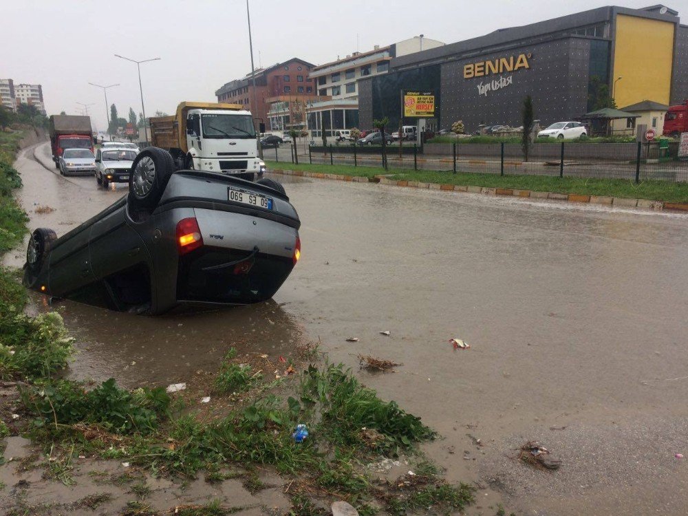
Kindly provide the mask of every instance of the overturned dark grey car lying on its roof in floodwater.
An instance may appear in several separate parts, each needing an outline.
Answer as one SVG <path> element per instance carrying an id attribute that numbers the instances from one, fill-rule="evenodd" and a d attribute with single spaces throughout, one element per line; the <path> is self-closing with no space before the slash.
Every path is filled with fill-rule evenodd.
<path id="1" fill-rule="evenodd" d="M 301 222 L 283 186 L 174 169 L 169 153 L 145 149 L 128 195 L 62 237 L 34 230 L 25 286 L 147 314 L 270 299 L 301 255 Z"/>

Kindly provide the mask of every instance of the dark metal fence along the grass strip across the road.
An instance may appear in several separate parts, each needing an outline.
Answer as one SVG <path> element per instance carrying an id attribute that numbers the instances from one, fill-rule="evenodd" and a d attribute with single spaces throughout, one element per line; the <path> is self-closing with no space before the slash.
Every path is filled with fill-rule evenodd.
<path id="1" fill-rule="evenodd" d="M 443 146 L 443 147 L 440 147 Z M 266 160 L 311 164 L 384 166 L 389 169 L 492 173 L 500 175 L 552 175 L 573 178 L 623 179 L 641 182 L 688 181 L 688 161 L 676 155 L 676 146 L 652 143 L 534 144 L 524 160 L 520 144 L 398 144 L 360 147 L 352 144 L 309 146 L 308 153 L 290 146 L 264 149 Z M 274 153 L 274 154 L 273 154 Z"/>

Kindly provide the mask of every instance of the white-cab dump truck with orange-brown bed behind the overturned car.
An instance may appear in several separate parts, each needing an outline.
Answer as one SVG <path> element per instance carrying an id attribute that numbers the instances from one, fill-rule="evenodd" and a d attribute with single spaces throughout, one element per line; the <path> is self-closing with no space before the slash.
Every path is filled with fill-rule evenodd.
<path id="1" fill-rule="evenodd" d="M 259 158 L 250 111 L 239 104 L 182 102 L 172 116 L 149 118 L 151 144 L 168 151 L 177 170 L 202 170 L 256 180 Z"/>

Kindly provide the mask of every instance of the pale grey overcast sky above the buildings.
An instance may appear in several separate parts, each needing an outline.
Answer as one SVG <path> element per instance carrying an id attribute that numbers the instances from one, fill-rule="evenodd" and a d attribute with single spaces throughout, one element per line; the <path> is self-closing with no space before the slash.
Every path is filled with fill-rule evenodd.
<path id="1" fill-rule="evenodd" d="M 682 1 L 682 0 L 681 0 Z M 669 7 L 679 8 L 674 0 Z M 651 0 L 624 0 L 641 8 Z M 610 5 L 604 0 L 250 0 L 255 65 L 290 57 L 314 64 L 356 50 L 424 34 L 453 43 L 493 30 L 526 25 Z M 215 89 L 250 72 L 245 0 L 3 1 L 0 78 L 43 85 L 47 113 L 89 114 L 105 127 L 103 92 L 127 118 L 141 111 L 136 65 L 142 60 L 147 116 L 172 112 L 181 100 L 216 100 Z M 259 57 L 260 52 L 260 57 Z"/>

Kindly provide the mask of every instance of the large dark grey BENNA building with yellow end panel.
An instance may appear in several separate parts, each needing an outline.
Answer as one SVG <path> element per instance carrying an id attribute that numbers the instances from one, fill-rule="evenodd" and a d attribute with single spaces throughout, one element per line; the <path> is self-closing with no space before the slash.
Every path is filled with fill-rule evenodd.
<path id="1" fill-rule="evenodd" d="M 521 125 L 527 95 L 541 125 L 579 118 L 605 95 L 619 106 L 680 103 L 688 98 L 688 27 L 665 6 L 605 7 L 396 56 L 384 76 L 358 81 L 361 127 L 383 116 L 396 127 L 402 89 L 436 94 L 431 129 L 463 120 L 471 132 Z"/>

